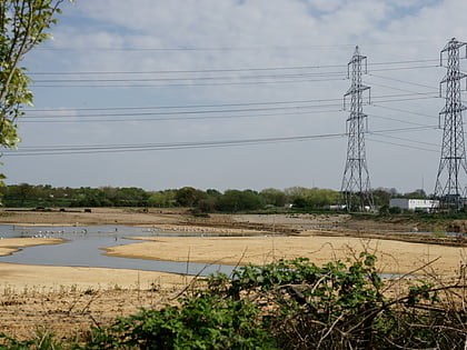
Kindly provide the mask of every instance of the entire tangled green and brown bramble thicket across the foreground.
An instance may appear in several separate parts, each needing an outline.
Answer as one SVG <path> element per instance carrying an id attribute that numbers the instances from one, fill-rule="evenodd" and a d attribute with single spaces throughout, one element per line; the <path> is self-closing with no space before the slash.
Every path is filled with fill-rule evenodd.
<path id="1" fill-rule="evenodd" d="M 364 252 L 347 264 L 295 259 L 247 266 L 232 278 L 206 279 L 178 306 L 141 309 L 93 328 L 86 343 L 47 341 L 50 349 L 465 348 L 464 279 L 451 286 L 416 281 L 391 299 L 375 261 Z M 38 341 L 6 343 L 46 349 Z"/>

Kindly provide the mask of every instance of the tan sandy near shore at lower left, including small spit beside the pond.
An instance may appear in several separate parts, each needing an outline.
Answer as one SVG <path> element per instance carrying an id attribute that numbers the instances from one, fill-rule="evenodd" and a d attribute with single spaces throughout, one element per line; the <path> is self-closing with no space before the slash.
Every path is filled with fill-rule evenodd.
<path id="1" fill-rule="evenodd" d="M 2 239 L 0 253 L 60 242 Z M 0 263 L 0 332 L 18 339 L 54 333 L 79 340 L 91 326 L 173 302 L 191 282 L 191 277 L 153 271 Z"/>

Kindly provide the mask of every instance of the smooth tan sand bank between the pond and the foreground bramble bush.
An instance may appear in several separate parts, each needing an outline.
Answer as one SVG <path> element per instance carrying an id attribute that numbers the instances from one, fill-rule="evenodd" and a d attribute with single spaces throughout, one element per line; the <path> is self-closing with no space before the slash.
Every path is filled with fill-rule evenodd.
<path id="1" fill-rule="evenodd" d="M 132 238 L 135 239 L 135 238 Z M 429 261 L 425 272 L 455 274 L 467 262 L 465 248 L 365 240 L 348 237 L 152 237 L 148 242 L 108 248 L 112 257 L 222 264 L 264 264 L 306 257 L 321 266 L 369 251 L 378 256 L 382 273 L 413 273 Z M 420 271 L 418 272 L 420 273 Z"/>

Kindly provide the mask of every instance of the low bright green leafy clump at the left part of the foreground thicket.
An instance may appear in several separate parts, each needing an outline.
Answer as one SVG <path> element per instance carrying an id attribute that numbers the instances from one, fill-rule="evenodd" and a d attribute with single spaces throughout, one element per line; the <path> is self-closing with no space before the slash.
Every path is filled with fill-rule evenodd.
<path id="1" fill-rule="evenodd" d="M 247 300 L 200 292 L 179 307 L 141 311 L 121 318 L 110 329 L 95 329 L 83 349 L 272 349 L 261 328 L 258 308 Z"/>

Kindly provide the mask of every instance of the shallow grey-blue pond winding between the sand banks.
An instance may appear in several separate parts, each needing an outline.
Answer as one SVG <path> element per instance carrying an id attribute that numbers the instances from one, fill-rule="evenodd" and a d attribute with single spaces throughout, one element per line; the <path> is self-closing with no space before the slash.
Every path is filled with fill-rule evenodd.
<path id="1" fill-rule="evenodd" d="M 103 256 L 101 248 L 109 248 L 137 242 L 126 237 L 170 237 L 199 236 L 190 232 L 157 232 L 153 229 L 121 226 L 87 226 L 87 227 L 13 227 L 0 226 L 1 238 L 51 237 L 62 238 L 62 244 L 27 247 L 11 256 L 0 257 L 0 262 L 66 266 L 111 269 L 135 269 L 186 274 L 208 276 L 223 272 L 230 274 L 235 267 L 222 264 L 205 264 L 195 262 L 173 262 L 159 260 L 128 259 Z M 220 236 L 203 233 L 205 236 Z M 141 242 L 138 240 L 138 242 Z"/>

